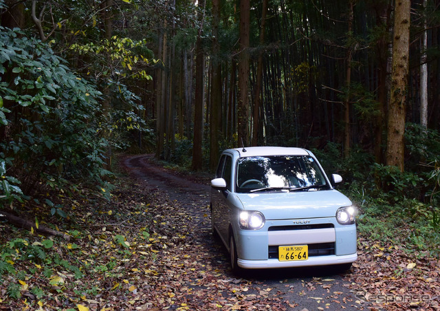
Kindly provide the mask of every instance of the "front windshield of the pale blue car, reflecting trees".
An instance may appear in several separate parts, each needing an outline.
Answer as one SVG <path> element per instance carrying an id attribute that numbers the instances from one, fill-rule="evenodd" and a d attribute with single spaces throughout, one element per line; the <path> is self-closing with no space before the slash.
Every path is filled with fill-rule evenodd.
<path id="1" fill-rule="evenodd" d="M 311 156 L 258 156 L 236 164 L 236 192 L 319 190 L 328 188 Z"/>

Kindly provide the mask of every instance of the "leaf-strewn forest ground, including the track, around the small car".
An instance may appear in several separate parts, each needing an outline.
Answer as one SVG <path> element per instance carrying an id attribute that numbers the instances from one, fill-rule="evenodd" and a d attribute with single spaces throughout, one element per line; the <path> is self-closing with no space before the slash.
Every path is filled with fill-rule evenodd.
<path id="1" fill-rule="evenodd" d="M 148 156 L 124 156 L 120 167 L 111 195 L 45 193 L 69 208 L 67 218 L 50 217 L 43 203 L 21 207 L 69 241 L 0 222 L 0 310 L 440 308 L 438 259 L 364 236 L 345 272 L 233 275 L 210 234 L 209 177 L 165 169 Z"/>

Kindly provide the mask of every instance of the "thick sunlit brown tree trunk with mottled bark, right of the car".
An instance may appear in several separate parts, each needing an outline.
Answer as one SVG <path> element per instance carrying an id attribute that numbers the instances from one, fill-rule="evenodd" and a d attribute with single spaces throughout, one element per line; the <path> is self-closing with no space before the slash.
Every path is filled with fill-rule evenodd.
<path id="1" fill-rule="evenodd" d="M 404 171 L 404 131 L 408 93 L 410 0 L 395 0 L 393 67 L 388 110 L 386 164 Z"/>

